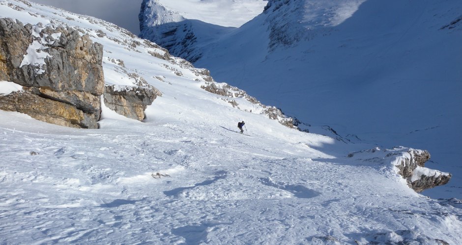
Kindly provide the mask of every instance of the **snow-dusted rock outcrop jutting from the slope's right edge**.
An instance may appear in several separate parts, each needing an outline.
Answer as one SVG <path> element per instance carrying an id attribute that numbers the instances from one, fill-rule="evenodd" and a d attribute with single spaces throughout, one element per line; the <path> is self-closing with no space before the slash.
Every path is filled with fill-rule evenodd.
<path id="1" fill-rule="evenodd" d="M 407 185 L 416 192 L 447 184 L 452 177 L 450 173 L 425 167 L 425 163 L 430 159 L 427 150 L 406 147 L 384 150 L 374 148 L 350 153 L 348 157 L 378 164 L 391 164 L 396 168 L 395 171 L 403 176 Z"/>

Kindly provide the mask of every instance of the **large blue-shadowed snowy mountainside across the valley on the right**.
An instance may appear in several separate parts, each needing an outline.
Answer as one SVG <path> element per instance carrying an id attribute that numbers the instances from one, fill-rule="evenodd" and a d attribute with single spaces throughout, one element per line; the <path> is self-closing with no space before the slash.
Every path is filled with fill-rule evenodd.
<path id="1" fill-rule="evenodd" d="M 461 198 L 461 14 L 460 0 L 270 0 L 198 41 L 194 64 L 345 138 L 428 149 L 454 177 L 426 194 Z"/>

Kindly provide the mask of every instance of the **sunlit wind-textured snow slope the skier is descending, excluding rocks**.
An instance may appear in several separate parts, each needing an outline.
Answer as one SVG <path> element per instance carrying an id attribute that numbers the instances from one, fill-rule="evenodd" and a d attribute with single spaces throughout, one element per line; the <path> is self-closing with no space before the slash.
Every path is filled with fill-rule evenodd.
<path id="1" fill-rule="evenodd" d="M 103 106 L 100 129 L 0 111 L 1 243 L 462 243 L 459 200 L 415 193 L 381 154 L 347 157 L 372 145 L 234 108 L 180 59 L 103 21 L 21 0 L 0 0 L 0 13 L 80 27 L 104 45 L 110 84 L 138 73 L 163 94 L 143 123 Z"/>

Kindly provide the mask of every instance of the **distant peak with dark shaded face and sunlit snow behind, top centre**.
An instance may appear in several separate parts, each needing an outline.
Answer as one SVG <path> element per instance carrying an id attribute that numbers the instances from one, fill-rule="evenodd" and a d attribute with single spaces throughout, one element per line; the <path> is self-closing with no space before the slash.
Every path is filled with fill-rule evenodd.
<path id="1" fill-rule="evenodd" d="M 196 61 L 201 50 L 257 16 L 264 0 L 143 0 L 140 36 Z"/>

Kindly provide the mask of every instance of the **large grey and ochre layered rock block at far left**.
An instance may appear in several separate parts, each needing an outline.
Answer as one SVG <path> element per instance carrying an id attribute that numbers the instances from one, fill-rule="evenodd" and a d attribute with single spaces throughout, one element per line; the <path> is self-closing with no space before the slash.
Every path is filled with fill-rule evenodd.
<path id="1" fill-rule="evenodd" d="M 58 125 L 97 128 L 102 57 L 102 45 L 71 27 L 0 19 L 0 79 L 24 87 L 24 92 L 0 97 L 0 109 Z"/>

